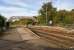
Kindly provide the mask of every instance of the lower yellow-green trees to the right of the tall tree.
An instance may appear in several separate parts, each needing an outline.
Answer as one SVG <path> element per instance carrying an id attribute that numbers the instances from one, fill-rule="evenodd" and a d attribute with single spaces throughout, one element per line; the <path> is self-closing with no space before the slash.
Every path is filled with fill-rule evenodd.
<path id="1" fill-rule="evenodd" d="M 56 24 L 60 25 L 70 25 L 74 23 L 74 12 L 72 11 L 67 11 L 67 10 L 59 10 L 57 11 L 56 15 Z"/>

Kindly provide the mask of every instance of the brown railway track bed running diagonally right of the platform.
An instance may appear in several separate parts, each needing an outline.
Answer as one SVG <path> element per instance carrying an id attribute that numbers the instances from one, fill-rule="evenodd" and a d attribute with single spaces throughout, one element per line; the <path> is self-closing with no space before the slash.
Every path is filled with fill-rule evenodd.
<path id="1" fill-rule="evenodd" d="M 43 38 L 44 40 L 53 43 L 57 48 L 72 48 L 74 47 L 74 37 L 69 36 L 70 34 L 55 32 L 55 31 L 46 31 L 45 29 L 36 29 L 30 28 L 35 34 Z"/>

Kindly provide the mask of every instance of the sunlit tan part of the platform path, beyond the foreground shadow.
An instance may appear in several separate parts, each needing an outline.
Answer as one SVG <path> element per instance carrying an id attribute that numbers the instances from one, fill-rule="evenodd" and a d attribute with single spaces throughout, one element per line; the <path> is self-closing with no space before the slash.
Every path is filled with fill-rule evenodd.
<path id="1" fill-rule="evenodd" d="M 11 29 L 1 39 L 23 41 L 23 40 L 31 40 L 31 39 L 38 39 L 38 38 L 39 37 L 36 34 L 34 34 L 32 31 L 30 31 L 28 28 L 19 27 L 19 28 Z"/>

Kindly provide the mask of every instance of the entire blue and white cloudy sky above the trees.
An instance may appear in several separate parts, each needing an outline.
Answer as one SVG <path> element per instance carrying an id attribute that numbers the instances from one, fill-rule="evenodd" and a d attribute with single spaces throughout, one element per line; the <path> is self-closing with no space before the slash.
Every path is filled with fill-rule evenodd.
<path id="1" fill-rule="evenodd" d="M 47 0 L 52 2 L 58 10 L 71 10 L 74 8 L 74 0 Z M 0 0 L 0 14 L 9 18 L 11 16 L 38 15 L 45 0 Z"/>

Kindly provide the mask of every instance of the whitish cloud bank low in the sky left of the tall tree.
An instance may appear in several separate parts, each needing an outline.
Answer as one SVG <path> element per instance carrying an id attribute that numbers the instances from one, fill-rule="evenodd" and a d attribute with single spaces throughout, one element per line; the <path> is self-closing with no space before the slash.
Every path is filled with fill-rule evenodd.
<path id="1" fill-rule="evenodd" d="M 23 8 L 16 8 L 16 7 L 1 7 L 0 12 L 2 15 L 6 16 L 7 18 L 11 16 L 33 16 L 37 15 L 37 11 L 29 11 Z"/>

